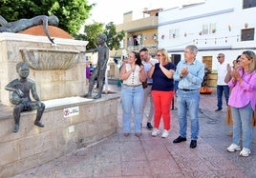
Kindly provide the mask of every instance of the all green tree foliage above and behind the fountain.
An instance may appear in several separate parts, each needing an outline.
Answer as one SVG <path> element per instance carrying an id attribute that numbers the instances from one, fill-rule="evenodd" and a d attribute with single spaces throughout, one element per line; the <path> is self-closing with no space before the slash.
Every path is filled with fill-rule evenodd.
<path id="1" fill-rule="evenodd" d="M 0 14 L 9 22 L 37 15 L 55 15 L 59 18 L 58 28 L 66 30 L 75 39 L 89 41 L 87 49 L 96 48 L 97 34 L 102 32 L 108 37 L 109 49 L 119 49 L 124 31 L 117 33 L 113 22 L 105 29 L 103 24 L 95 22 L 84 27 L 84 34 L 77 35 L 95 6 L 87 4 L 87 0 L 0 0 Z"/>

